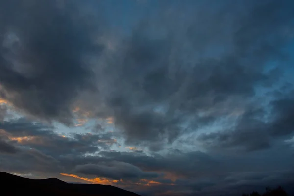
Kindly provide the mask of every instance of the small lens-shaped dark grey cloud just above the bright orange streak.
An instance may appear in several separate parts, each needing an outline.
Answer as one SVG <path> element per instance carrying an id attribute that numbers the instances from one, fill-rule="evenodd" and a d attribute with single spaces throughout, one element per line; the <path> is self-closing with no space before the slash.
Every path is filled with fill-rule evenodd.
<path id="1" fill-rule="evenodd" d="M 140 168 L 129 163 L 112 161 L 109 163 L 85 164 L 76 166 L 74 172 L 120 179 L 148 179 L 158 177 L 156 172 L 143 172 Z"/>

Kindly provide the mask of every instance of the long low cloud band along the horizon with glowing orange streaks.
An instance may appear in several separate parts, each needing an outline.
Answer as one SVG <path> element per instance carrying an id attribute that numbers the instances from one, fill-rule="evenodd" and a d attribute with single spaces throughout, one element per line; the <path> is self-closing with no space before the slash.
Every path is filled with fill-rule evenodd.
<path id="1" fill-rule="evenodd" d="M 85 136 L 82 139 L 79 135 L 79 140 L 91 141 L 89 135 Z M 57 138 L 55 140 L 58 141 Z M 60 145 L 54 140 L 51 142 Z M 63 148 L 66 145 L 71 147 L 65 140 Z M 281 147 L 242 156 L 179 150 L 167 155 L 99 151 L 92 156 L 60 148 L 52 148 L 56 150 L 52 153 L 46 146 L 30 149 L 29 142 L 22 143 L 18 152 L 2 154 L 2 170 L 39 174 L 39 177 L 49 173 L 60 178 L 59 173 L 62 173 L 65 177 L 62 179 L 70 182 L 73 179 L 67 177 L 75 178 L 76 182 L 111 184 L 141 194 L 164 195 L 170 191 L 182 195 L 209 195 L 220 191 L 229 193 L 240 187 L 248 190 L 245 188 L 247 184 L 260 187 L 274 185 L 274 181 L 284 184 L 291 179 L 287 174 L 293 172 L 294 163 L 292 150 Z"/>

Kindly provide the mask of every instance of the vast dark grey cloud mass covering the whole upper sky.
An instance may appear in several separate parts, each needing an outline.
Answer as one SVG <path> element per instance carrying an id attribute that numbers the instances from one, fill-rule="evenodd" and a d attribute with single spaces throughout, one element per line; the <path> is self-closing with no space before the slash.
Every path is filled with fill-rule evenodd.
<path id="1" fill-rule="evenodd" d="M 195 2 L 191 12 L 162 3 L 123 36 L 87 14 L 93 1 L 0 2 L 2 98 L 68 125 L 79 98 L 91 117 L 113 117 L 127 144 L 152 151 L 278 81 L 281 70 L 266 65 L 286 59 L 294 19 L 290 0 Z"/>

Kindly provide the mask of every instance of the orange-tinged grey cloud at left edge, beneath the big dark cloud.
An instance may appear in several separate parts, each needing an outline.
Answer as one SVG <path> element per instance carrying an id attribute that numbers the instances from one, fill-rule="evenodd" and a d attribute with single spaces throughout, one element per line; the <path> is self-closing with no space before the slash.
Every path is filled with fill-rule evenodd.
<path id="1" fill-rule="evenodd" d="M 14 141 L 16 145 L 25 145 L 41 150 L 51 156 L 94 153 L 100 149 L 107 150 L 116 140 L 111 133 L 77 134 L 69 136 L 55 132 L 55 127 L 36 123 L 24 118 L 0 123 L 0 135 Z"/>

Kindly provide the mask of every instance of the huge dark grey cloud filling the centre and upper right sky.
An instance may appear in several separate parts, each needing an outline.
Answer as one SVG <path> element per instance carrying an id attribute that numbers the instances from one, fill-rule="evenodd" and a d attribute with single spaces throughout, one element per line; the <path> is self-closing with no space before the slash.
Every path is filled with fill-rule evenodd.
<path id="1" fill-rule="evenodd" d="M 279 68 L 265 72 L 266 63 L 284 60 L 281 47 L 294 5 L 242 2 L 245 6 L 232 3 L 224 10 L 205 7 L 206 13 L 185 22 L 173 20 L 173 14 L 147 19 L 118 47 L 119 60 L 109 60 L 116 70 L 102 78 L 108 87 L 106 113 L 114 116 L 128 144 L 143 141 L 152 149 L 153 142 L 173 142 L 183 131 L 232 112 L 206 114 L 216 105 L 225 107 L 234 99 L 243 105 L 256 85 L 278 81 Z"/>

